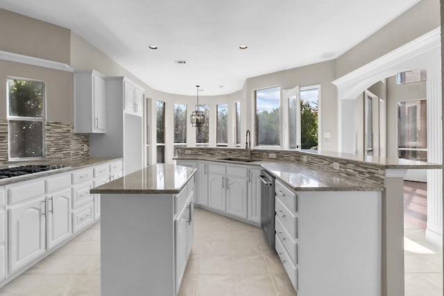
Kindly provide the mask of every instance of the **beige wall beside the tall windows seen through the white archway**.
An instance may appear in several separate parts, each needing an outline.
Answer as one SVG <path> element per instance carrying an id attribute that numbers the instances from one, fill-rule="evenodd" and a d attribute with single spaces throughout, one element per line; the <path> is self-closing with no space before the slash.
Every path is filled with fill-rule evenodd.
<path id="1" fill-rule="evenodd" d="M 387 78 L 387 157 L 398 158 L 397 153 L 397 119 L 398 102 L 427 98 L 425 81 L 398 85 L 396 76 Z"/>

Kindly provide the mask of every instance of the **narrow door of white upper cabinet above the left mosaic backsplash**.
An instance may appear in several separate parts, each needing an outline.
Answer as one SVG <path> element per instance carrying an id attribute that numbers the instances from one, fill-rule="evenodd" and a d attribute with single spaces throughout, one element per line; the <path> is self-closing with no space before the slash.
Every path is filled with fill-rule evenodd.
<path id="1" fill-rule="evenodd" d="M 105 132 L 106 119 L 105 119 L 105 81 L 99 76 L 92 76 L 93 85 L 93 104 L 94 104 L 94 123 L 93 130 L 95 132 Z"/>

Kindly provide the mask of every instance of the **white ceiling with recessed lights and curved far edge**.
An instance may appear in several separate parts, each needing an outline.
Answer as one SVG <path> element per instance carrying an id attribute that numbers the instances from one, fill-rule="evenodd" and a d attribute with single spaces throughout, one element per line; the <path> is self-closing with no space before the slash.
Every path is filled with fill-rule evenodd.
<path id="1" fill-rule="evenodd" d="M 71 29 L 153 89 L 193 96 L 200 85 L 212 96 L 238 91 L 246 78 L 337 58 L 418 2 L 0 0 L 0 7 Z"/>

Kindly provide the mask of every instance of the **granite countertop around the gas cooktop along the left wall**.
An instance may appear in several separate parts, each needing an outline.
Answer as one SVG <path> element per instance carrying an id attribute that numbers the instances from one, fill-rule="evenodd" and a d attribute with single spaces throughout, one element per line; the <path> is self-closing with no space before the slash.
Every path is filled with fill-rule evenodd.
<path id="1" fill-rule="evenodd" d="M 42 159 L 42 160 L 36 160 L 33 162 L 1 162 L 0 163 L 0 169 L 1 168 L 12 168 L 15 166 L 26 166 L 26 165 L 65 165 L 64 168 L 58 168 L 56 170 L 51 171 L 44 171 L 41 173 L 33 173 L 28 175 L 22 175 L 19 177 L 10 177 L 6 179 L 0 180 L 0 186 L 12 184 L 16 182 L 22 182 L 27 180 L 33 180 L 37 177 L 45 177 L 49 175 L 54 175 L 58 173 L 65 173 L 68 171 L 74 171 L 79 168 L 87 168 L 88 166 L 95 166 L 96 164 L 104 164 L 105 162 L 112 162 L 114 160 L 123 159 L 122 157 L 103 157 L 103 158 L 96 158 L 96 157 L 90 157 L 87 159 L 82 159 L 80 161 L 76 162 L 70 162 L 66 159 Z"/>

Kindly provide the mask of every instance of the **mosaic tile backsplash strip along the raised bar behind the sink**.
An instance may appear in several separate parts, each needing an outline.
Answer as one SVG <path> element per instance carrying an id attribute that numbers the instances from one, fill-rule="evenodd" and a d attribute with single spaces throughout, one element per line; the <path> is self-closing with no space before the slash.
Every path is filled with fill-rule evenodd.
<path id="1" fill-rule="evenodd" d="M 185 151 L 187 150 L 187 154 Z M 270 158 L 270 153 L 275 154 L 275 158 Z M 302 160 L 302 156 L 307 156 L 307 162 Z M 178 158 L 223 158 L 223 157 L 248 157 L 248 151 L 239 148 L 178 148 Z M 375 185 L 384 185 L 385 169 L 383 166 L 368 164 L 363 162 L 353 162 L 348 159 L 338 159 L 323 155 L 309 155 L 300 151 L 288 150 L 251 150 L 253 159 L 279 160 L 284 162 L 300 163 L 311 166 L 316 170 L 325 171 L 332 175 L 341 177 L 353 177 L 357 180 L 369 182 Z M 339 163 L 339 170 L 333 168 L 333 162 Z"/>

